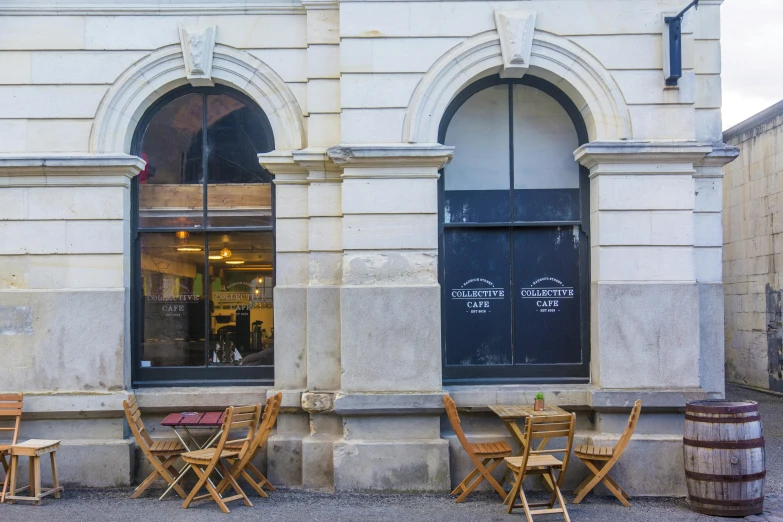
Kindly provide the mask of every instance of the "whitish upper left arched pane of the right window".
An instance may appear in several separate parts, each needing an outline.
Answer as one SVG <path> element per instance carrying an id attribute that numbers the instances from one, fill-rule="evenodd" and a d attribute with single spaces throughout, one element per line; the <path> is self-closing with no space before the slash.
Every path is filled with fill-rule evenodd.
<path id="1" fill-rule="evenodd" d="M 508 190 L 508 86 L 471 96 L 454 114 L 446 132 L 454 159 L 445 168 L 446 190 Z"/>

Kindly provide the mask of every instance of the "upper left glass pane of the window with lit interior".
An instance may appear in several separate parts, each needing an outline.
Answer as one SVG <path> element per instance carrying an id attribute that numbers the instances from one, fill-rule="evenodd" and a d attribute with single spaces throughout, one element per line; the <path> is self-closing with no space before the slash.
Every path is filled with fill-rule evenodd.
<path id="1" fill-rule="evenodd" d="M 144 131 L 140 227 L 203 226 L 202 118 L 202 96 L 186 94 L 163 106 Z"/>

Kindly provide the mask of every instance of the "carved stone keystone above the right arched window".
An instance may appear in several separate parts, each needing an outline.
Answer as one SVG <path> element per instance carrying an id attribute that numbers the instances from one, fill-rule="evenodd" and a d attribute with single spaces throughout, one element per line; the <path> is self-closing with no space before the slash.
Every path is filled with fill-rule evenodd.
<path id="1" fill-rule="evenodd" d="M 503 56 L 501 78 L 522 78 L 530 67 L 536 13 L 495 11 L 495 26 L 500 35 L 500 51 Z"/>

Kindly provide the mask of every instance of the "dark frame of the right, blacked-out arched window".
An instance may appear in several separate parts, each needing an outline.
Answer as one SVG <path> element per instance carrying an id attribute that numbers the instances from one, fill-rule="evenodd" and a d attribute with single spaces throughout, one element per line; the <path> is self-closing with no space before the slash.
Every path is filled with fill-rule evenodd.
<path id="1" fill-rule="evenodd" d="M 452 118 L 460 107 L 474 94 L 496 85 L 508 85 L 509 89 L 509 154 L 510 189 L 514 190 L 514 132 L 513 132 L 513 86 L 525 85 L 548 94 L 566 111 L 576 130 L 578 145 L 588 142 L 587 126 L 579 109 L 561 89 L 536 76 L 522 78 L 500 78 L 499 75 L 482 78 L 460 92 L 449 104 L 438 128 L 438 143 L 445 143 L 446 132 Z M 457 154 L 459 151 L 456 151 Z M 580 219 L 575 221 L 514 221 L 494 223 L 445 223 L 445 169 L 440 170 L 438 179 L 438 282 L 441 286 L 441 363 L 444 385 L 481 384 L 546 384 L 546 383 L 589 383 L 590 382 L 590 171 L 579 165 Z M 513 207 L 513 205 L 512 205 Z M 449 366 L 446 364 L 446 285 L 444 230 L 448 228 L 507 228 L 509 231 L 522 227 L 579 226 L 583 241 L 579 253 L 579 290 L 581 295 L 581 352 L 578 364 L 535 364 L 535 365 L 473 365 Z M 513 296 L 513 290 L 511 292 Z M 512 297 L 513 303 L 513 297 Z M 513 309 L 512 309 L 513 310 Z M 512 320 L 513 324 L 513 320 Z M 513 326 L 512 326 L 513 329 Z M 512 334 L 513 335 L 513 334 Z M 513 339 L 513 337 L 512 337 Z M 512 340 L 513 343 L 513 340 Z"/>

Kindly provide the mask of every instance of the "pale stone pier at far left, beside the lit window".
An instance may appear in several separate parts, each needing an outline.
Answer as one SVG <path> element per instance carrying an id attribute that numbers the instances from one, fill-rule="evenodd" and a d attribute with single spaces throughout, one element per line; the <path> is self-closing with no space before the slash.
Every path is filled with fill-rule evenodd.
<path id="1" fill-rule="evenodd" d="M 68 428 L 56 435 L 65 482 L 131 479 L 130 182 L 143 166 L 0 154 L 0 393 L 25 393 L 22 439 Z"/>

